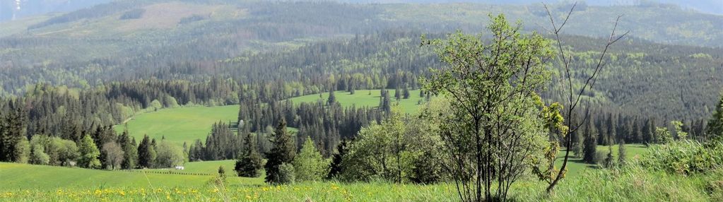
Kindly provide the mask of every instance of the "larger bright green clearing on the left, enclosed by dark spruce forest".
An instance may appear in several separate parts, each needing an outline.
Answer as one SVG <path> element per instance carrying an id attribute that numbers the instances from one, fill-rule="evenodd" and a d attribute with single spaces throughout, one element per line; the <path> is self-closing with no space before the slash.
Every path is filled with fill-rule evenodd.
<path id="1" fill-rule="evenodd" d="M 239 105 L 220 107 L 177 107 L 161 109 L 153 113 L 136 115 L 126 124 L 129 133 L 137 142 L 147 134 L 151 138 L 166 140 L 175 144 L 189 144 L 195 139 L 205 140 L 211 132 L 213 123 L 222 121 L 236 121 L 239 115 Z M 124 126 L 116 126 L 117 132 L 123 131 Z"/>

